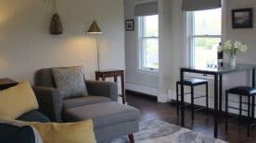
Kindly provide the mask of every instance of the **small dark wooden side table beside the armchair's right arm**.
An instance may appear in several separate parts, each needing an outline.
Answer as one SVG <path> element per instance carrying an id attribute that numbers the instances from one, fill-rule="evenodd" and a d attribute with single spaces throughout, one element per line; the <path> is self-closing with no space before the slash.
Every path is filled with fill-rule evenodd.
<path id="1" fill-rule="evenodd" d="M 114 81 L 118 82 L 118 77 L 121 77 L 122 82 L 122 103 L 126 103 L 126 95 L 125 95 L 125 77 L 124 70 L 106 70 L 106 71 L 96 71 L 96 80 L 102 79 L 105 81 L 106 77 L 114 77 Z"/>

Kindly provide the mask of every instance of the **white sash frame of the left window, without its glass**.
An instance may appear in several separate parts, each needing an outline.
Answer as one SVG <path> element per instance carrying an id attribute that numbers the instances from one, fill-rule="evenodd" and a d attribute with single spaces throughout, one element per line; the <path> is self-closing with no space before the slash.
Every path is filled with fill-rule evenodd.
<path id="1" fill-rule="evenodd" d="M 159 15 L 156 15 L 159 17 Z M 159 68 L 150 68 L 145 66 L 145 41 L 149 40 L 149 39 L 155 39 L 158 40 L 159 42 L 159 36 L 155 37 L 155 36 L 151 36 L 151 37 L 147 37 L 145 36 L 145 30 L 146 30 L 146 17 L 147 16 L 143 16 L 143 17 L 138 17 L 138 69 L 142 70 L 142 71 L 147 71 L 147 72 L 153 72 L 153 73 L 158 73 L 159 72 Z"/>

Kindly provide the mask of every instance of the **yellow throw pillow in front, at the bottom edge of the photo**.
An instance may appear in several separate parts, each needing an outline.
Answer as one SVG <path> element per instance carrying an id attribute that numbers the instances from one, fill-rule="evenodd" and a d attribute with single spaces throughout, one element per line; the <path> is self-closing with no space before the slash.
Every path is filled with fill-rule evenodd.
<path id="1" fill-rule="evenodd" d="M 27 123 L 36 128 L 44 143 L 96 143 L 93 121 L 77 123 Z"/>

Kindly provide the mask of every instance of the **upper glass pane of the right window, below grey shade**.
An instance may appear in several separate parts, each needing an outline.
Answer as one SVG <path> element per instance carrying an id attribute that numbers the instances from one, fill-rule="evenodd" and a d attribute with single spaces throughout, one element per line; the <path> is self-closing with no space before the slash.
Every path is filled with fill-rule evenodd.
<path id="1" fill-rule="evenodd" d="M 222 34 L 222 8 L 194 12 L 196 35 Z"/>

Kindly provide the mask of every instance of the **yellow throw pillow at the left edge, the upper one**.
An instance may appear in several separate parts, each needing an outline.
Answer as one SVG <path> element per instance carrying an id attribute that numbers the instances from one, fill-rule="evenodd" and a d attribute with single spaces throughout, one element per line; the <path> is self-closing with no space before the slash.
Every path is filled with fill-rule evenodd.
<path id="1" fill-rule="evenodd" d="M 28 81 L 0 91 L 0 118 L 16 119 L 23 113 L 38 109 L 38 102 Z"/>

